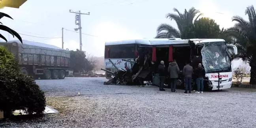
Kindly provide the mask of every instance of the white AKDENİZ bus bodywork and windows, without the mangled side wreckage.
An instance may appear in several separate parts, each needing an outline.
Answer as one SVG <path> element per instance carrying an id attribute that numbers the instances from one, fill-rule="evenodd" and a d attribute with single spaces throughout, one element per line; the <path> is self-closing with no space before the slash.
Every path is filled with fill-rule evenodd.
<path id="1" fill-rule="evenodd" d="M 235 54 L 237 54 L 237 47 L 226 44 L 223 39 L 181 40 L 179 38 L 172 38 L 106 42 L 105 69 L 111 72 L 115 71 L 115 68 L 109 63 L 109 58 L 119 69 L 124 68 L 126 65 L 129 67 L 131 64 L 127 64 L 128 62 L 121 60 L 135 59 L 134 52 L 139 47 L 152 47 L 152 61 L 156 65 L 161 60 L 164 60 L 166 67 L 168 67 L 168 63 L 175 59 L 180 70 L 182 70 L 186 62 L 190 62 L 193 68 L 196 68 L 198 63 L 202 63 L 206 72 L 204 85 L 210 90 L 227 89 L 232 85 L 232 68 L 228 47 L 232 47 Z M 218 73 L 220 79 L 218 78 Z M 157 77 L 152 77 L 153 83 L 158 85 L 159 81 L 156 80 Z M 110 79 L 111 75 L 106 76 L 106 78 Z M 184 81 L 183 77 L 180 77 L 179 81 L 182 83 Z"/>

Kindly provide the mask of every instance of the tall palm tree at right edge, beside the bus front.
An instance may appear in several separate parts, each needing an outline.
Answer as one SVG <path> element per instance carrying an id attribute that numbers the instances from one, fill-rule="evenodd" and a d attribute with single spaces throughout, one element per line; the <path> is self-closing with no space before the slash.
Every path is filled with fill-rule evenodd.
<path id="1" fill-rule="evenodd" d="M 228 37 L 231 43 L 237 46 L 238 55 L 248 62 L 250 70 L 250 84 L 256 84 L 256 10 L 253 6 L 248 6 L 245 15 L 248 15 L 249 21 L 242 17 L 233 16 L 232 21 L 236 21 L 235 25 L 227 29 Z"/>

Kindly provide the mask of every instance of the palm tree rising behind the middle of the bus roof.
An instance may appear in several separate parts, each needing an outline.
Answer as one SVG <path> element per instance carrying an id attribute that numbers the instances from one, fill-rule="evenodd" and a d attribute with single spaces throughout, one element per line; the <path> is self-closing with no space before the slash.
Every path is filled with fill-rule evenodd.
<path id="1" fill-rule="evenodd" d="M 166 18 L 174 20 L 177 23 L 178 29 L 169 24 L 160 24 L 157 28 L 157 36 L 155 38 L 188 38 L 185 34 L 190 26 L 193 24 L 193 20 L 197 20 L 202 13 L 194 7 L 188 11 L 185 9 L 184 13 L 179 12 L 178 9 L 173 8 L 173 11 L 178 13 L 168 13 Z"/>

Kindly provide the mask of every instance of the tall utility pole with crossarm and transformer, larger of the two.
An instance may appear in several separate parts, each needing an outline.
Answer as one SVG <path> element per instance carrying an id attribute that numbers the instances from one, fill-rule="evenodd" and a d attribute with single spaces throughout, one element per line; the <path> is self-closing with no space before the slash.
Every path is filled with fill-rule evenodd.
<path id="1" fill-rule="evenodd" d="M 82 51 L 82 27 L 81 27 L 81 14 L 82 15 L 90 15 L 90 12 L 88 13 L 81 13 L 81 11 L 74 12 L 70 10 L 70 13 L 75 13 L 75 24 L 78 25 L 78 28 L 74 28 L 75 31 L 79 30 L 79 36 L 80 36 L 80 51 Z"/>

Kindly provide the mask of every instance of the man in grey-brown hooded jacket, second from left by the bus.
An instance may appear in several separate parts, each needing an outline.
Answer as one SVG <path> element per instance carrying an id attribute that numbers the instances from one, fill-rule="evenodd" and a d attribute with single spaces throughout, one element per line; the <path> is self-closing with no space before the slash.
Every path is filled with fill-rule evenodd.
<path id="1" fill-rule="evenodd" d="M 168 72 L 170 73 L 171 78 L 171 92 L 176 92 L 177 79 L 179 77 L 179 66 L 176 63 L 176 60 L 169 63 Z"/>

